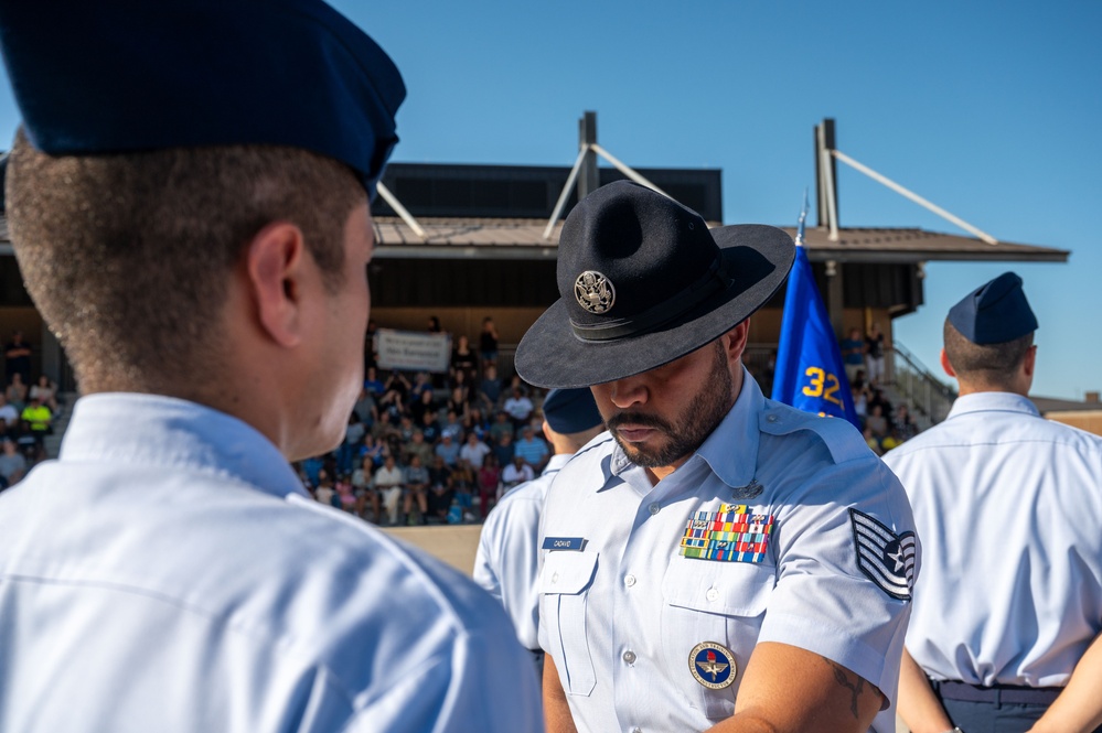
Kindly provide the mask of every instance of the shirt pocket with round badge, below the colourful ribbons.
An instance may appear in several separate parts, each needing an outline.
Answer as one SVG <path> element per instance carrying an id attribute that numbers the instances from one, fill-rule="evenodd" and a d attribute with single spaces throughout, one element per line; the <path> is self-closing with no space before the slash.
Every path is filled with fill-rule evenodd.
<path id="1" fill-rule="evenodd" d="M 709 720 L 735 713 L 735 696 L 758 640 L 775 583 L 775 569 L 749 562 L 717 562 L 675 557 L 662 581 L 662 638 L 667 669 L 680 677 L 689 707 Z M 710 642 L 735 656 L 735 681 L 714 690 L 693 676 L 694 647 Z"/>

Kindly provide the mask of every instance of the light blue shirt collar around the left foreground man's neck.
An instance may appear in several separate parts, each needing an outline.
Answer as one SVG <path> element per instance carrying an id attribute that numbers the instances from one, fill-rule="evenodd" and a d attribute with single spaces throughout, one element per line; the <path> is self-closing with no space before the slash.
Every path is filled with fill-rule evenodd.
<path id="1" fill-rule="evenodd" d="M 287 459 L 252 425 L 160 395 L 97 394 L 73 408 L 58 460 L 213 472 L 272 496 L 306 496 Z"/>

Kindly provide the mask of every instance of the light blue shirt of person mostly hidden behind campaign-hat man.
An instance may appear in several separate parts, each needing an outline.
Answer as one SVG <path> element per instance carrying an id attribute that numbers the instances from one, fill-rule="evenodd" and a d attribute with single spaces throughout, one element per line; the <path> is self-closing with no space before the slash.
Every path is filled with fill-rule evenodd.
<path id="1" fill-rule="evenodd" d="M 539 516 L 547 489 L 571 455 L 553 455 L 538 478 L 505 494 L 482 525 L 474 556 L 474 582 L 504 606 L 516 638 L 533 650 L 539 648 L 539 599 L 535 593 Z"/>

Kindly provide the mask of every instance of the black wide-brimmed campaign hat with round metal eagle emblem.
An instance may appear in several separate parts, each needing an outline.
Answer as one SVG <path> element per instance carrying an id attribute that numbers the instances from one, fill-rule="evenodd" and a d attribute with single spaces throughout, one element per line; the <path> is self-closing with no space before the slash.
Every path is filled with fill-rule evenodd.
<path id="1" fill-rule="evenodd" d="M 560 298 L 521 339 L 517 374 L 539 387 L 588 387 L 673 362 L 761 308 L 794 257 L 775 227 L 709 230 L 650 188 L 602 186 L 563 226 Z"/>

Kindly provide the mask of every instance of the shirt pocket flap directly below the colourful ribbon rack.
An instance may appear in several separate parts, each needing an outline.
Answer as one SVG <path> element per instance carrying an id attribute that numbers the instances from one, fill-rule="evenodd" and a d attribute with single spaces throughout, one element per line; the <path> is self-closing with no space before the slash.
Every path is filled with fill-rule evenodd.
<path id="1" fill-rule="evenodd" d="M 757 616 L 766 611 L 775 583 L 774 569 L 745 562 L 708 562 L 674 558 L 662 581 L 672 606 L 728 616 Z"/>

